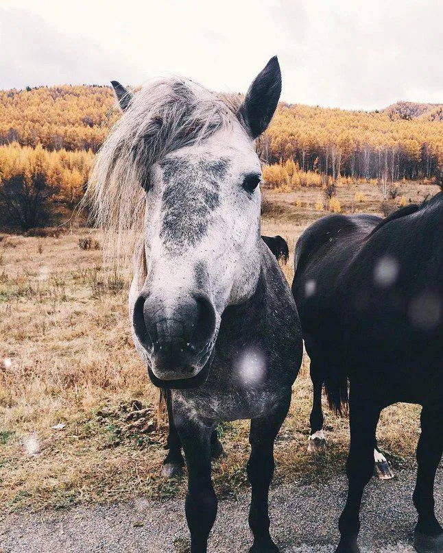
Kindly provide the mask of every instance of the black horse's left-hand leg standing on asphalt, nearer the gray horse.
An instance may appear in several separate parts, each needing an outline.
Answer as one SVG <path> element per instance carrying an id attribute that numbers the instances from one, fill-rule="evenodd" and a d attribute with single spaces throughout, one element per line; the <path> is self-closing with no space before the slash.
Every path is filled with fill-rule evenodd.
<path id="1" fill-rule="evenodd" d="M 359 553 L 361 496 L 374 472 L 374 443 L 381 408 L 350 389 L 350 449 L 346 473 L 348 499 L 339 520 L 340 543 L 335 553 Z M 355 391 L 354 391 L 355 392 Z"/>

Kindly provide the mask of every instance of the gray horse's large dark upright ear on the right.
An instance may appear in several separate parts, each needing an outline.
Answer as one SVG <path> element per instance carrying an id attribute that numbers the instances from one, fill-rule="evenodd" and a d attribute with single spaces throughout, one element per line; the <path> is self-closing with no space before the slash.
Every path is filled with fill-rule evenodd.
<path id="1" fill-rule="evenodd" d="M 270 124 L 281 93 L 281 72 L 277 56 L 267 62 L 246 93 L 237 114 L 251 138 L 257 138 Z"/>

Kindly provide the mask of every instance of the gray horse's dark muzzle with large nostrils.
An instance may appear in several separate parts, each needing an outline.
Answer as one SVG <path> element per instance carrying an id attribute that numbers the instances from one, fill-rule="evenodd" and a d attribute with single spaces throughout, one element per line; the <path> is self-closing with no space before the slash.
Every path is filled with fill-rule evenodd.
<path id="1" fill-rule="evenodd" d="M 151 361 L 153 382 L 176 387 L 177 381 L 200 380 L 195 377 L 211 356 L 216 326 L 215 310 L 206 295 L 189 294 L 171 302 L 142 293 L 134 305 L 133 325 Z"/>

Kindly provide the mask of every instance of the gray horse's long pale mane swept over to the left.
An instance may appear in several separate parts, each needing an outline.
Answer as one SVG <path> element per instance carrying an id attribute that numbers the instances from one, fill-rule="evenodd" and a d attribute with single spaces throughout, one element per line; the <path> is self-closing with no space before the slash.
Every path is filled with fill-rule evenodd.
<path id="1" fill-rule="evenodd" d="M 152 166 L 236 119 L 241 97 L 222 97 L 187 79 L 152 82 L 134 95 L 104 141 L 86 191 L 93 223 L 112 260 L 127 260 L 143 230 Z"/>

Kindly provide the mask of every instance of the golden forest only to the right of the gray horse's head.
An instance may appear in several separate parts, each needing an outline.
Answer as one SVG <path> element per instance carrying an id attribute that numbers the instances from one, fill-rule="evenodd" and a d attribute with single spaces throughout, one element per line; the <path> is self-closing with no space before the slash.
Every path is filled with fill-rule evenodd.
<path id="1" fill-rule="evenodd" d="M 410 106 L 410 104 L 407 104 Z M 435 177 L 443 167 L 442 110 L 391 106 L 356 112 L 281 104 L 263 140 L 270 163 L 293 159 L 303 171 L 380 180 Z M 419 105 L 420 106 L 420 105 Z"/>

